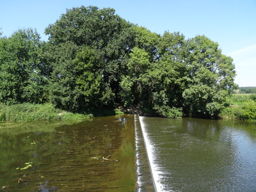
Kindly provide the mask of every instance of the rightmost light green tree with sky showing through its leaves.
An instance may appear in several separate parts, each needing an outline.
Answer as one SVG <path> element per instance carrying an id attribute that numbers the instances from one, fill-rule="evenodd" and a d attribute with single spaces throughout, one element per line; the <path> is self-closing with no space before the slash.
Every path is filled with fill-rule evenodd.
<path id="1" fill-rule="evenodd" d="M 233 60 L 204 35 L 189 39 L 187 44 L 188 84 L 182 94 L 185 107 L 192 116 L 216 118 L 225 98 L 236 88 Z"/>

